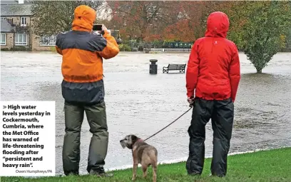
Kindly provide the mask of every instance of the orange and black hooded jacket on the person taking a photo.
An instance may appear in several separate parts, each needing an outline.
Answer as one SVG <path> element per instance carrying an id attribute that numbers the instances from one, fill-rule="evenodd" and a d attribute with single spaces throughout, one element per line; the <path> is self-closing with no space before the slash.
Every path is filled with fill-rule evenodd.
<path id="1" fill-rule="evenodd" d="M 118 44 L 108 31 L 92 31 L 96 11 L 81 5 L 74 11 L 72 30 L 58 34 L 56 51 L 63 56 L 62 94 L 68 102 L 100 103 L 104 98 L 103 59 L 119 52 Z"/>

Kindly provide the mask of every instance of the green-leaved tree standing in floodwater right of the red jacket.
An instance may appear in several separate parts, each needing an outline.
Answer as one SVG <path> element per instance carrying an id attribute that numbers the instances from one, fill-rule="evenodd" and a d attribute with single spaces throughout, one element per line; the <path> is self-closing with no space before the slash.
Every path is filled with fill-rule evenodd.
<path id="1" fill-rule="evenodd" d="M 267 66 L 290 38 L 290 1 L 238 1 L 230 12 L 229 39 L 244 51 L 257 73 Z"/>

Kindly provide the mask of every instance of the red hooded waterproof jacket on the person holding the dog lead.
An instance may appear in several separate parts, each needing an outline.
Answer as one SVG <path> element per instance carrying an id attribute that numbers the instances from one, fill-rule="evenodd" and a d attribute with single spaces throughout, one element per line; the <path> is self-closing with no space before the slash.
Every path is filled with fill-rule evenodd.
<path id="1" fill-rule="evenodd" d="M 187 96 L 205 100 L 235 101 L 240 82 L 238 48 L 226 39 L 229 20 L 223 12 L 208 16 L 205 37 L 197 39 L 190 53 L 187 71 Z"/>

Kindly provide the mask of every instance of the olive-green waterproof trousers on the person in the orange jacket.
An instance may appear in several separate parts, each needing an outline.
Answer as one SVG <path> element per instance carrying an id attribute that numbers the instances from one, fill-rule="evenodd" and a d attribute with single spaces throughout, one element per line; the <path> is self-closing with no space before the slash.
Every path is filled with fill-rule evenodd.
<path id="1" fill-rule="evenodd" d="M 108 128 L 105 102 L 94 105 L 65 101 L 66 134 L 63 139 L 63 171 L 65 175 L 78 174 L 80 161 L 80 136 L 84 111 L 93 134 L 88 153 L 87 171 L 104 173 L 103 166 L 108 149 Z"/>

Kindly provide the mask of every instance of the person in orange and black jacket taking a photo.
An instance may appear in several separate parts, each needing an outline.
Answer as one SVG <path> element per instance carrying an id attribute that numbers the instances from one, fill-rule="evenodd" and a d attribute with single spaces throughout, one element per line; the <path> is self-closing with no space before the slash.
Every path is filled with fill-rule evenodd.
<path id="1" fill-rule="evenodd" d="M 63 171 L 78 175 L 80 134 L 84 111 L 93 134 L 88 153 L 88 173 L 108 176 L 103 165 L 108 149 L 104 102 L 103 59 L 119 52 L 116 40 L 103 26 L 104 35 L 93 33 L 96 11 L 81 5 L 74 11 L 72 30 L 58 34 L 56 51 L 63 56 L 62 95 L 65 100 L 66 134 L 63 140 Z"/>

